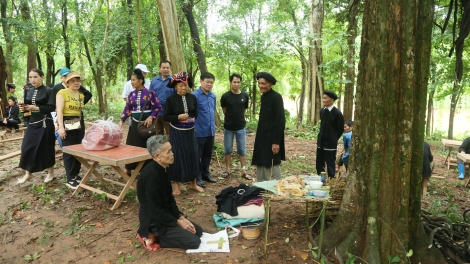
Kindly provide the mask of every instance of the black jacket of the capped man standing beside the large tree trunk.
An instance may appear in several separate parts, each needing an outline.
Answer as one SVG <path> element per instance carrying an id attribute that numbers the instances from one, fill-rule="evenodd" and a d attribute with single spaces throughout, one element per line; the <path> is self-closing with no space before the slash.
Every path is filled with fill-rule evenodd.
<path id="1" fill-rule="evenodd" d="M 320 110 L 320 131 L 317 146 L 323 149 L 336 149 L 338 140 L 344 132 L 344 117 L 335 106 L 329 111 L 326 107 Z"/>

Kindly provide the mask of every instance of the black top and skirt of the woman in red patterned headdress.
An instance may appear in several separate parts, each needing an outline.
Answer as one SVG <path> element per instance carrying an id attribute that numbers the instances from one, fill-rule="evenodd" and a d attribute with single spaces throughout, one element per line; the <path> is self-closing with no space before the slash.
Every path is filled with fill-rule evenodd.
<path id="1" fill-rule="evenodd" d="M 199 173 L 199 153 L 194 123 L 178 121 L 178 115 L 184 113 L 197 118 L 196 97 L 186 94 L 184 101 L 183 96 L 179 94 L 168 97 L 163 109 L 163 120 L 171 122 L 170 143 L 175 156 L 171 180 L 175 182 L 192 181 Z"/>

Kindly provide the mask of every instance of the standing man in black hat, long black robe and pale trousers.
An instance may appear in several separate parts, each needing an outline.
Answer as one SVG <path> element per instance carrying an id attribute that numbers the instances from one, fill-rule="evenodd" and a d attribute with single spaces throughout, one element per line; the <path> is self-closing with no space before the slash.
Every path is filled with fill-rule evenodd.
<path id="1" fill-rule="evenodd" d="M 256 165 L 256 180 L 269 181 L 281 179 L 281 160 L 286 160 L 284 147 L 284 101 L 272 89 L 276 78 L 267 72 L 256 74 L 261 95 L 258 128 L 256 129 L 252 165 Z"/>

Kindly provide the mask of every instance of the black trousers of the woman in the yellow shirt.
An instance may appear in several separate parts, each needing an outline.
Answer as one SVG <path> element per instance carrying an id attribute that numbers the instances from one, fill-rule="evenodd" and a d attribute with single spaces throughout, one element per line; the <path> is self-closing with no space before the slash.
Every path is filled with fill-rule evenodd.
<path id="1" fill-rule="evenodd" d="M 80 129 L 66 131 L 67 136 L 62 139 L 62 146 L 70 146 L 82 143 L 82 139 L 85 135 L 85 128 L 82 126 Z M 80 173 L 80 161 L 78 161 L 73 155 L 63 153 L 64 168 L 67 175 L 67 181 L 71 181 Z"/>

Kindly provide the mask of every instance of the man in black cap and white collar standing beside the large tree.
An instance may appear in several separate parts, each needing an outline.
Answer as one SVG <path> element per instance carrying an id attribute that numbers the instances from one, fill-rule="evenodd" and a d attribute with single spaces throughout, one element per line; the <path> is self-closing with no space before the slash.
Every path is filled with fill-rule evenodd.
<path id="1" fill-rule="evenodd" d="M 320 131 L 317 138 L 317 174 L 325 171 L 328 177 L 335 177 L 335 160 L 338 140 L 344 131 L 344 117 L 334 106 L 338 96 L 333 91 L 323 92 L 323 108 L 320 110 Z"/>

